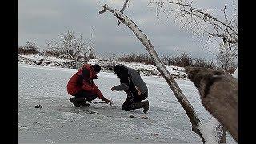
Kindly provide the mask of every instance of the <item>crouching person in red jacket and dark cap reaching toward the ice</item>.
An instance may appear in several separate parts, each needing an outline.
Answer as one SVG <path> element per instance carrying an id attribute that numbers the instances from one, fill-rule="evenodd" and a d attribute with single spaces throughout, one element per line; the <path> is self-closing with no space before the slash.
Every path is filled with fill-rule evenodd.
<path id="1" fill-rule="evenodd" d="M 97 79 L 97 74 L 100 70 L 101 66 L 98 64 L 85 64 L 70 78 L 66 88 L 68 94 L 74 96 L 73 98 L 70 98 L 70 102 L 72 102 L 74 106 L 90 106 L 86 101 L 90 102 L 96 98 L 102 99 L 102 101 L 105 101 L 106 103 L 110 102 L 110 100 L 102 95 L 102 92 L 93 81 L 94 79 Z M 111 105 L 112 102 L 110 102 L 110 106 Z"/>

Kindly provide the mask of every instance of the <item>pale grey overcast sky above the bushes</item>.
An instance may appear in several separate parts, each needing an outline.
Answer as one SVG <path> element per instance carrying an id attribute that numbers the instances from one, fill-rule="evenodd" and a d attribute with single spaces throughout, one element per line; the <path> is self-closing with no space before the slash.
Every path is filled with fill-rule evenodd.
<path id="1" fill-rule="evenodd" d="M 93 30 L 94 52 L 98 55 L 119 55 L 147 51 L 138 38 L 125 25 L 118 25 L 110 12 L 98 14 L 102 4 L 120 10 L 124 0 L 18 0 L 18 45 L 34 42 L 41 50 L 46 50 L 46 42 L 58 40 L 60 34 L 68 30 L 76 36 L 90 40 Z M 215 59 L 218 42 L 203 46 L 194 38 L 190 30 L 180 29 L 174 18 L 166 18 L 152 6 L 150 0 L 130 0 L 125 14 L 130 17 L 148 36 L 158 54 L 190 54 L 194 58 Z M 212 9 L 217 17 L 222 17 L 226 2 L 233 0 L 197 0 L 200 8 Z"/>

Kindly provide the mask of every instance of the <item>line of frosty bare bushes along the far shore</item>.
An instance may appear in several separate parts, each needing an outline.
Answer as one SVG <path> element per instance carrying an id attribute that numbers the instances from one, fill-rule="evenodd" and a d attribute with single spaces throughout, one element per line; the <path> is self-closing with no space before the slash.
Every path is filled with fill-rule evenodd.
<path id="1" fill-rule="evenodd" d="M 93 47 L 82 40 L 82 35 L 77 38 L 74 32 L 68 31 L 66 34 L 60 35 L 60 40 L 52 40 L 46 43 L 47 50 L 42 54 L 46 56 L 54 56 L 58 58 L 68 58 L 74 62 L 88 62 L 89 59 L 97 58 L 93 52 Z M 38 54 L 38 46 L 33 42 L 27 42 L 26 46 L 18 47 L 18 54 Z M 236 53 L 231 52 L 233 57 L 230 57 L 230 50 L 226 46 L 220 46 L 219 54 L 216 56 L 217 62 L 205 60 L 203 58 L 192 58 L 186 53 L 180 55 L 162 55 L 162 62 L 165 65 L 174 65 L 180 67 L 204 67 L 215 70 L 226 70 L 234 72 L 236 68 L 235 57 Z M 149 54 L 131 53 L 115 57 L 113 60 L 120 62 L 141 62 L 153 65 L 154 62 Z"/>

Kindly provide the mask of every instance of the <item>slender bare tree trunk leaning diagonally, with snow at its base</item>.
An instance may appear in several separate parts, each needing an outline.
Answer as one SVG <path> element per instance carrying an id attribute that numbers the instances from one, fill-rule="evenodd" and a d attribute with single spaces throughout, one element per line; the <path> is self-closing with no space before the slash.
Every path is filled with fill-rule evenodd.
<path id="1" fill-rule="evenodd" d="M 127 1 L 128 0 L 125 1 L 124 5 L 126 5 Z M 202 124 L 202 122 L 198 118 L 198 115 L 195 113 L 193 106 L 186 99 L 185 95 L 182 93 L 182 90 L 179 88 L 177 82 L 174 79 L 174 76 L 169 73 L 169 71 L 166 69 L 166 66 L 164 66 L 163 62 L 158 57 L 158 54 L 154 50 L 154 46 L 150 42 L 149 38 L 147 38 L 146 34 L 142 33 L 142 30 L 140 30 L 138 26 L 130 18 L 128 18 L 125 14 L 123 14 L 123 10 L 125 6 L 120 11 L 106 4 L 102 5 L 102 7 L 103 7 L 103 10 L 101 10 L 99 14 L 103 14 L 106 11 L 110 11 L 111 13 L 114 14 L 114 16 L 118 18 L 118 26 L 119 26 L 119 22 L 122 22 L 123 24 L 128 26 L 130 30 L 133 31 L 135 36 L 140 40 L 140 42 L 142 42 L 146 50 L 148 50 L 151 58 L 153 59 L 154 66 L 157 67 L 158 71 L 162 74 L 163 78 L 166 79 L 166 82 L 170 86 L 170 89 L 174 92 L 174 95 L 178 99 L 178 102 L 180 102 L 183 109 L 186 111 L 186 114 L 192 124 L 192 131 L 194 131 L 196 134 L 200 136 L 200 138 L 202 139 L 202 142 L 204 143 L 207 142 L 208 138 L 211 136 L 207 135 L 205 129 L 202 128 L 205 124 Z M 212 120 L 214 120 L 214 118 L 212 118 Z M 222 134 L 218 135 L 218 142 L 226 142 L 223 126 L 218 121 L 214 121 L 214 124 L 215 124 L 214 127 L 210 128 L 212 132 L 217 131 L 216 127 L 220 128 L 220 130 L 218 131 L 222 131 Z"/>

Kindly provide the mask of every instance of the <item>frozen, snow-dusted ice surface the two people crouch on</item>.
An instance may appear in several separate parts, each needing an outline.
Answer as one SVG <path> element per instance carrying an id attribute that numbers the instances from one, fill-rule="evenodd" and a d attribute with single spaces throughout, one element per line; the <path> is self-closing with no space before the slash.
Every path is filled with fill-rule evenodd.
<path id="1" fill-rule="evenodd" d="M 122 110 L 126 94 L 110 90 L 119 81 L 109 72 L 100 72 L 95 83 L 114 105 L 75 108 L 69 102 L 66 82 L 76 71 L 18 65 L 19 143 L 202 143 L 198 134 L 191 131 L 185 111 L 164 78 L 142 76 L 149 88 L 150 101 L 148 114 L 143 114 L 142 110 Z M 203 108 L 194 84 L 187 79 L 177 82 L 202 122 L 208 122 L 210 114 Z M 42 109 L 34 107 L 38 104 Z M 146 119 L 129 118 L 130 114 Z M 226 143 L 236 142 L 227 134 Z"/>

